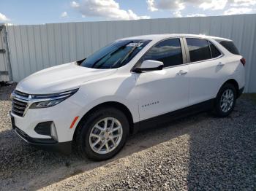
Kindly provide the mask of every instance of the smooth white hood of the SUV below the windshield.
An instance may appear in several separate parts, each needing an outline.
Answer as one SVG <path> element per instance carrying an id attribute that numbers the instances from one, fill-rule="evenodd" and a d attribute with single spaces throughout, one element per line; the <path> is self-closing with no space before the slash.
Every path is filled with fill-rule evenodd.
<path id="1" fill-rule="evenodd" d="M 80 87 L 83 82 L 113 74 L 117 69 L 89 69 L 74 63 L 53 66 L 21 80 L 16 90 L 29 94 L 59 93 Z"/>

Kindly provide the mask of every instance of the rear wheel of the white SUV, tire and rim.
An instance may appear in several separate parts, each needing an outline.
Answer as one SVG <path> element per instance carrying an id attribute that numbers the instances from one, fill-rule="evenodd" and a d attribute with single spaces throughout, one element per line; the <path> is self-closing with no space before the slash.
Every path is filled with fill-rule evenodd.
<path id="1" fill-rule="evenodd" d="M 227 102 L 225 101 L 225 98 L 229 103 L 225 104 L 225 102 Z M 227 117 L 231 112 L 233 112 L 233 109 L 236 105 L 236 98 L 236 87 L 230 83 L 223 85 L 215 99 L 214 114 L 217 115 L 217 117 Z"/>

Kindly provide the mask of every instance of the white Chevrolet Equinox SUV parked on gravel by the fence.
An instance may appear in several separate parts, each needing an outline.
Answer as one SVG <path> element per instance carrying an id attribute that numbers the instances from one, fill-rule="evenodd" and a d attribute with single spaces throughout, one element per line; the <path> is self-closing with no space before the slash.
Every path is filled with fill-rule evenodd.
<path id="1" fill-rule="evenodd" d="M 12 126 L 29 144 L 106 160 L 138 130 L 212 109 L 226 117 L 244 89 L 245 60 L 214 36 L 119 39 L 82 61 L 18 83 Z M 158 126 L 159 127 L 159 126 Z"/>

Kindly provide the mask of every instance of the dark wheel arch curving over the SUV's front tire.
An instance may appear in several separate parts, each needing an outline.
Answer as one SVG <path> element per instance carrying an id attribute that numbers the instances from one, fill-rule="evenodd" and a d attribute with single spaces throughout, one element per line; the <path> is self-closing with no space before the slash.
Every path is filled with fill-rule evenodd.
<path id="1" fill-rule="evenodd" d="M 82 122 L 83 120 L 86 120 L 86 118 L 89 117 L 89 114 L 91 114 L 91 112 L 94 112 L 97 109 L 100 109 L 100 108 L 106 107 L 106 106 L 114 107 L 116 109 L 121 110 L 121 112 L 124 112 L 124 114 L 127 116 L 128 122 L 129 122 L 129 132 L 130 133 L 134 132 L 134 121 L 133 121 L 132 113 L 129 111 L 127 106 L 125 106 L 124 104 L 121 104 L 120 102 L 117 102 L 117 101 L 108 101 L 108 102 L 104 102 L 102 104 L 98 104 L 97 106 L 94 106 L 88 112 L 86 112 L 86 114 L 84 114 L 83 117 L 80 118 L 78 125 L 76 125 L 76 127 L 75 127 L 75 132 L 73 134 L 72 140 L 75 140 L 75 135 L 78 130 L 78 126 L 80 125 L 80 122 Z"/>

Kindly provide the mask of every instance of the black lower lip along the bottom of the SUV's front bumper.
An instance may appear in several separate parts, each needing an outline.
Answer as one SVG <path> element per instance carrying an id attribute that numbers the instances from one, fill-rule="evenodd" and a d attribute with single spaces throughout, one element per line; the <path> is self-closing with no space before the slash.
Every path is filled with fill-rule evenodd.
<path id="1" fill-rule="evenodd" d="M 45 149 L 47 151 L 61 152 L 65 155 L 69 155 L 72 151 L 72 141 L 61 142 L 55 141 L 53 139 L 35 139 L 28 136 L 23 130 L 20 130 L 17 127 L 14 127 L 15 133 L 20 136 L 23 141 L 26 141 L 28 144 L 31 144 L 34 147 L 39 149 Z"/>

